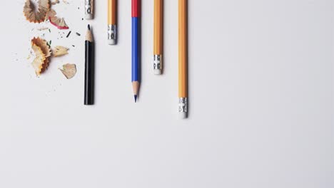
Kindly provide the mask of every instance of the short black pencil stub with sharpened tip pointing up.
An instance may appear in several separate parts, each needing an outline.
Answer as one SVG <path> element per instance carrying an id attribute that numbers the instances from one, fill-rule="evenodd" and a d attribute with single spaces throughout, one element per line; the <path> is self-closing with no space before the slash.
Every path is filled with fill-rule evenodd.
<path id="1" fill-rule="evenodd" d="M 94 104 L 94 48 L 91 26 L 88 25 L 85 41 L 85 105 Z"/>

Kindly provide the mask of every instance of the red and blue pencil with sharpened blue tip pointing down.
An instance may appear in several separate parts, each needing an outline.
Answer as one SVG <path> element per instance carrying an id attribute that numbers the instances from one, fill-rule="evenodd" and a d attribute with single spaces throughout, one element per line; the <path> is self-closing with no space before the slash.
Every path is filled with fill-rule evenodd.
<path id="1" fill-rule="evenodd" d="M 132 0 L 132 88 L 135 103 L 137 102 L 140 83 L 140 0 Z"/>

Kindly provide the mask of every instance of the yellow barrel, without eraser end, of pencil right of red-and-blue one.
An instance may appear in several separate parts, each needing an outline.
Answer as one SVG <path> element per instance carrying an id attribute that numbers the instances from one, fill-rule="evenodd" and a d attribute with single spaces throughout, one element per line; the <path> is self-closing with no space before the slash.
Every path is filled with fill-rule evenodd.
<path id="1" fill-rule="evenodd" d="M 154 44 L 153 55 L 162 55 L 163 0 L 154 0 Z"/>

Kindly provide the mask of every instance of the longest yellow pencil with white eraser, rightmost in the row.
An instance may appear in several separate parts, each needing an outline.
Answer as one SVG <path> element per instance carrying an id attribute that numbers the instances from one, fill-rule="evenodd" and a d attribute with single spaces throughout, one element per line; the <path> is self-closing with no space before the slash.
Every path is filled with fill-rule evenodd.
<path id="1" fill-rule="evenodd" d="M 188 115 L 187 24 L 187 0 L 178 0 L 178 112 L 182 118 Z"/>

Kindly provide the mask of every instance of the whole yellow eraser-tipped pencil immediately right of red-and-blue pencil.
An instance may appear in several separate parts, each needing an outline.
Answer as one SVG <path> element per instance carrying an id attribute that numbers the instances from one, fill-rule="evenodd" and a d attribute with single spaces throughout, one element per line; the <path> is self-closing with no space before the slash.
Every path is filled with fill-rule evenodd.
<path id="1" fill-rule="evenodd" d="M 163 0 L 154 0 L 154 31 L 153 31 L 153 71 L 162 73 L 163 48 Z"/>

